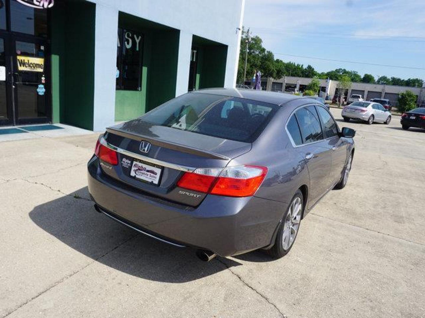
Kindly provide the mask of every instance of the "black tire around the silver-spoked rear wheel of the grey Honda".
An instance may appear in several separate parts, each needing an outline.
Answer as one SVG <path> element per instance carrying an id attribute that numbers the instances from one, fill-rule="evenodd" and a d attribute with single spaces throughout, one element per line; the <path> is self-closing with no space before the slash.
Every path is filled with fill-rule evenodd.
<path id="1" fill-rule="evenodd" d="M 289 217 L 289 210 L 291 209 L 291 207 L 293 206 L 294 202 L 298 202 L 301 204 L 301 209 L 300 209 L 300 215 L 299 218 L 297 218 L 297 229 L 295 232 L 295 236 L 292 240 L 292 242 L 289 244 L 289 247 L 284 247 L 284 243 L 283 243 L 283 234 L 285 232 L 285 234 L 287 234 L 286 231 L 288 231 L 288 217 Z M 297 234 L 298 234 L 298 230 L 300 228 L 300 224 L 301 224 L 301 218 L 303 217 L 303 212 L 304 212 L 304 201 L 303 201 L 303 193 L 300 190 L 297 190 L 297 192 L 295 192 L 295 195 L 292 197 L 291 203 L 288 206 L 288 209 L 285 212 L 285 215 L 283 215 L 282 220 L 280 221 L 279 224 L 279 229 L 278 229 L 278 233 L 276 235 L 276 239 L 275 239 L 275 244 L 272 246 L 272 248 L 266 250 L 266 253 L 269 254 L 270 256 L 274 257 L 274 258 L 280 258 L 285 256 L 286 254 L 289 253 L 289 251 L 291 250 L 292 246 L 294 246 L 295 243 L 295 239 L 297 238 Z M 289 217 L 291 218 L 291 217 Z M 295 220 L 295 219 L 294 219 Z M 293 223 L 292 225 L 294 225 L 295 223 Z M 291 240 L 291 227 L 289 226 L 289 240 Z"/>

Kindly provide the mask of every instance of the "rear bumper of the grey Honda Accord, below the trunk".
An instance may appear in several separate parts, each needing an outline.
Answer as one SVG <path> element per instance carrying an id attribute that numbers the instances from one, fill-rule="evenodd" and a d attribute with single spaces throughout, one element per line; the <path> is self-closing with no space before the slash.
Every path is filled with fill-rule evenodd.
<path id="1" fill-rule="evenodd" d="M 269 245 L 286 204 L 257 197 L 207 195 L 196 207 L 147 195 L 102 173 L 88 162 L 88 190 L 100 212 L 177 246 L 231 256 Z"/>

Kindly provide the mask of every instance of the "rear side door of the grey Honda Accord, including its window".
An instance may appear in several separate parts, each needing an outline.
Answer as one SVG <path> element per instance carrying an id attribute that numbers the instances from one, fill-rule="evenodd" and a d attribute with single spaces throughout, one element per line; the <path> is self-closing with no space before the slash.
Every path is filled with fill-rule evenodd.
<path id="1" fill-rule="evenodd" d="M 323 139 L 322 126 L 314 105 L 295 111 L 303 144 L 297 151 L 306 160 L 309 170 L 309 208 L 329 190 L 331 179 L 331 147 Z"/>

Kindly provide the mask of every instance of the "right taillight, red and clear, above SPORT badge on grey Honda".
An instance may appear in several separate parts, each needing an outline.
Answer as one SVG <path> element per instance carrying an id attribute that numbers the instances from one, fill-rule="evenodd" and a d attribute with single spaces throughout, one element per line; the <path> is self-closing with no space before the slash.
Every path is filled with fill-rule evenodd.
<path id="1" fill-rule="evenodd" d="M 187 172 L 177 186 L 215 195 L 247 197 L 254 195 L 267 174 L 267 168 L 259 166 L 227 167 L 221 173 L 220 170 L 200 168 Z"/>

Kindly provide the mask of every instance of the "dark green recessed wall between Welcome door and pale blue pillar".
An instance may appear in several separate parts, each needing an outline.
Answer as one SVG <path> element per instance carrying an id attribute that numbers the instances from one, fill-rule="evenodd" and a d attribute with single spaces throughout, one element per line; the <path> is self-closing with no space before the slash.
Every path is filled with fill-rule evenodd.
<path id="1" fill-rule="evenodd" d="M 93 3 L 67 1 L 54 6 L 51 20 L 52 121 L 93 129 Z"/>

